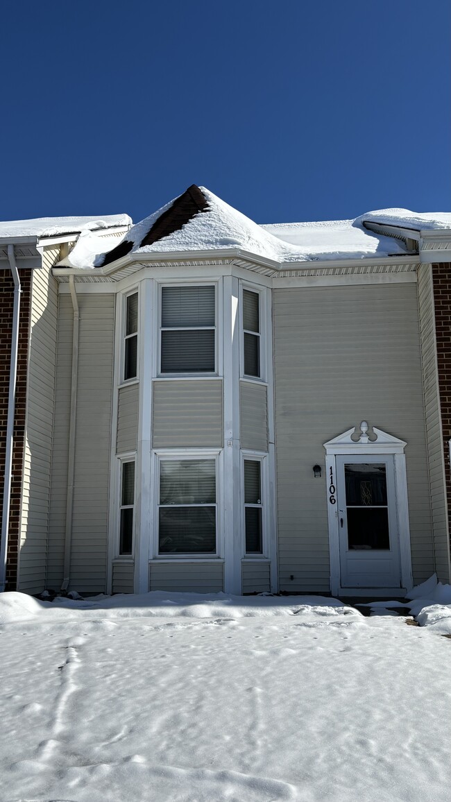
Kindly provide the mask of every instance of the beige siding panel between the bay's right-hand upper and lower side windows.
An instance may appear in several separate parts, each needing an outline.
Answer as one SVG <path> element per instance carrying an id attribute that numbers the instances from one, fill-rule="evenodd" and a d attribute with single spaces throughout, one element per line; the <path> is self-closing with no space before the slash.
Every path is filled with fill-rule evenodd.
<path id="1" fill-rule="evenodd" d="M 264 384 L 240 382 L 242 448 L 268 450 L 267 390 Z"/>

